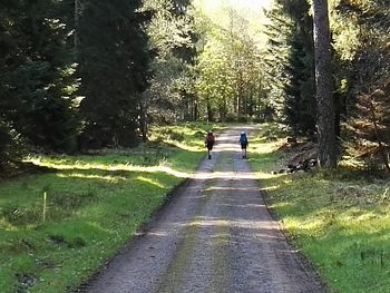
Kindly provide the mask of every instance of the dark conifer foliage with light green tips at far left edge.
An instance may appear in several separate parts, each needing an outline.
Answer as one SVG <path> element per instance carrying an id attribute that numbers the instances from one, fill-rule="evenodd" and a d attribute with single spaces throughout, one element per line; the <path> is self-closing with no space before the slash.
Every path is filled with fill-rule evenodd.
<path id="1" fill-rule="evenodd" d="M 79 120 L 60 2 L 1 3 L 0 114 L 30 144 L 74 150 Z"/>

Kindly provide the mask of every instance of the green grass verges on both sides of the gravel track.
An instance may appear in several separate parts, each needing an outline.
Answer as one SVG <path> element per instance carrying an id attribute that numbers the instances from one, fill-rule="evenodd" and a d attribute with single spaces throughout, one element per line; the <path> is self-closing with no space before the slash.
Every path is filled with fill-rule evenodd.
<path id="1" fill-rule="evenodd" d="M 0 291 L 78 286 L 193 172 L 209 128 L 222 126 L 158 127 L 154 143 L 135 149 L 30 158 L 51 172 L 0 182 Z M 283 131 L 262 129 L 250 137 L 250 160 L 289 238 L 332 292 L 389 292 L 389 180 L 347 167 L 271 175 L 285 156 L 275 152 Z"/>

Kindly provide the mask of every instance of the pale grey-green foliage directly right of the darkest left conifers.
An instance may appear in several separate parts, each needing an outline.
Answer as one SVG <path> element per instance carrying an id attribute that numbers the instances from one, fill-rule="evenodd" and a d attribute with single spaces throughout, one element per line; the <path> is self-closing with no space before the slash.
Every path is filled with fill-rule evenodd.
<path id="1" fill-rule="evenodd" d="M 147 0 L 144 9 L 153 12 L 147 32 L 156 53 L 150 88 L 143 95 L 144 110 L 152 121 L 196 120 L 196 35 L 189 1 Z"/>

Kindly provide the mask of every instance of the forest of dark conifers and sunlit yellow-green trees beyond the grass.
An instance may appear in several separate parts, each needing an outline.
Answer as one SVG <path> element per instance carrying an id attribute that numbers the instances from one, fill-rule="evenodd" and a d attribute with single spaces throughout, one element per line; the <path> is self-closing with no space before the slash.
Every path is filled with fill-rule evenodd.
<path id="1" fill-rule="evenodd" d="M 131 147 L 150 124 L 279 121 L 316 139 L 306 0 L 1 1 L 0 172 L 29 152 Z M 389 3 L 330 0 L 337 156 L 389 167 Z"/>

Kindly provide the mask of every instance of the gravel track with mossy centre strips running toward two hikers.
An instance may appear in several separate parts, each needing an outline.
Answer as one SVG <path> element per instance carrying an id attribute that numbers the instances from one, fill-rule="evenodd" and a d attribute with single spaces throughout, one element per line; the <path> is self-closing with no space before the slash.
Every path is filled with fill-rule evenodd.
<path id="1" fill-rule="evenodd" d="M 325 292 L 270 216 L 240 130 L 217 135 L 213 158 L 86 292 Z"/>

